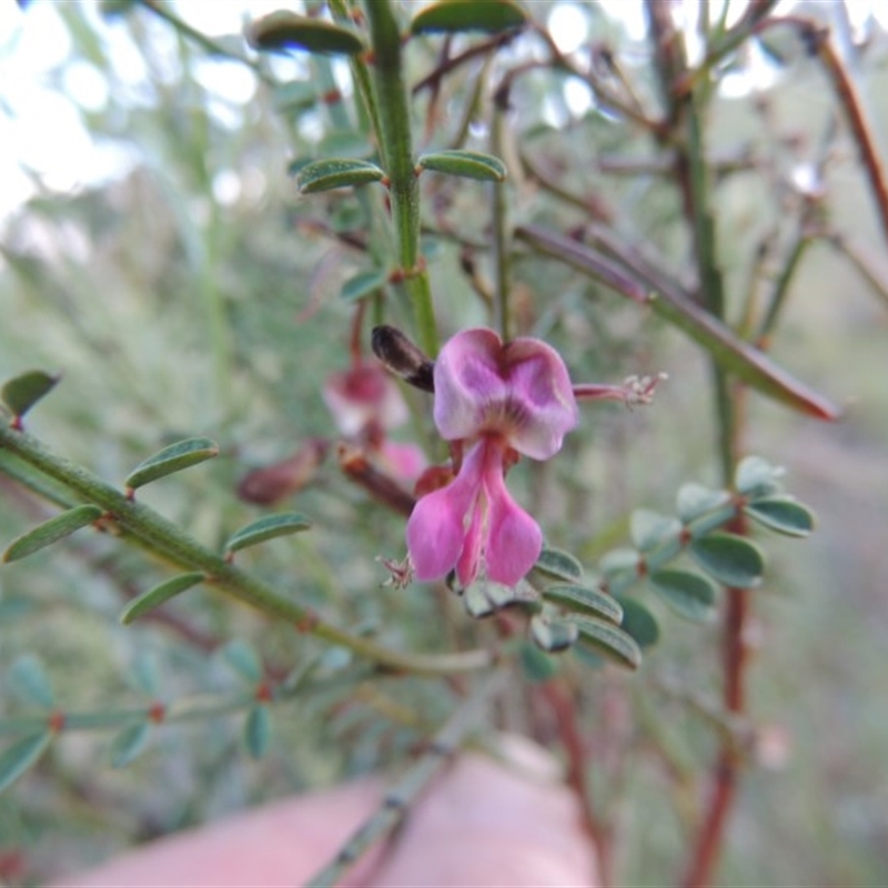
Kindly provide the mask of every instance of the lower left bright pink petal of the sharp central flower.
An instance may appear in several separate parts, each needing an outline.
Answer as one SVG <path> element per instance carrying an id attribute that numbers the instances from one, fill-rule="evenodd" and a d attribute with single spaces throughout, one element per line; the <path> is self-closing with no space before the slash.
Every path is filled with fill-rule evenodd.
<path id="1" fill-rule="evenodd" d="M 407 521 L 407 551 L 417 579 L 446 576 L 460 557 L 466 536 L 465 518 L 481 493 L 484 445 L 463 461 L 446 486 L 423 496 Z"/>

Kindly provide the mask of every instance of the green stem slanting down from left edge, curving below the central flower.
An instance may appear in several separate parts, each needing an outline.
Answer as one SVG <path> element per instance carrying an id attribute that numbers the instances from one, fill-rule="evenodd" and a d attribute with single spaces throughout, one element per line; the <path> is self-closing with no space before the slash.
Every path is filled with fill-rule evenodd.
<path id="1" fill-rule="evenodd" d="M 224 592 L 269 616 L 287 620 L 301 630 L 345 647 L 381 667 L 423 675 L 447 675 L 483 669 L 493 663 L 493 654 L 481 649 L 438 655 L 400 653 L 325 623 L 310 607 L 284 597 L 270 584 L 189 537 L 149 506 L 127 498 L 84 468 L 50 453 L 30 435 L 0 426 L 0 448 L 60 482 L 82 502 L 101 506 L 114 524 L 132 534 L 145 549 L 178 567 L 203 572 L 210 588 Z"/>

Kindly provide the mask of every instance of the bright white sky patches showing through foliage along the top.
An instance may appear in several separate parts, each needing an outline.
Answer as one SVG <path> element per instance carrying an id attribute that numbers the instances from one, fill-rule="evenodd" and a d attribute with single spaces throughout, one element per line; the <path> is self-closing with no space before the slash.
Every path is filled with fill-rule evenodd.
<path id="1" fill-rule="evenodd" d="M 645 36 L 642 0 L 598 0 L 604 12 L 619 22 L 632 41 Z M 870 20 L 888 27 L 888 2 L 885 0 L 846 0 L 852 28 Z M 728 3 L 730 23 L 741 14 L 745 0 L 712 0 L 716 16 Z M 148 69 L 138 47 L 120 22 L 104 20 L 94 0 L 78 4 L 107 53 L 118 82 L 129 87 L 128 98 L 150 101 L 145 83 Z M 179 0 L 174 4 L 184 21 L 210 37 L 242 32 L 244 23 L 266 12 L 299 3 L 282 0 Z M 563 0 L 552 6 L 547 26 L 564 53 L 582 51 L 592 39 L 592 19 L 582 7 L 589 2 Z M 794 6 L 785 0 L 780 9 Z M 125 174 L 138 162 L 132 148 L 122 142 L 94 139 L 83 125 L 81 110 L 101 112 L 110 100 L 104 72 L 74 52 L 71 37 L 60 14 L 61 3 L 36 0 L 24 10 L 10 0 L 0 2 L 0 221 L 7 219 L 41 188 L 74 192 L 83 185 L 97 184 Z M 684 22 L 688 52 L 697 58 L 702 46 L 696 30 L 697 3 L 685 4 Z M 160 31 L 159 31 L 160 32 Z M 172 52 L 169 53 L 172 57 Z M 172 62 L 171 62 L 172 64 Z M 275 73 L 302 71 L 299 60 L 273 60 Z M 775 75 L 764 58 L 750 53 L 750 68 L 744 77 L 727 81 L 728 93 L 739 94 L 767 85 Z M 255 90 L 255 78 L 238 63 L 201 61 L 195 78 L 218 97 L 210 103 L 216 119 L 229 127 L 238 125 L 236 107 L 248 103 Z M 334 69 L 341 88 L 347 89 L 347 70 Z M 588 88 L 576 79 L 564 87 L 564 102 L 572 114 L 585 113 L 593 104 Z M 553 112 L 554 113 L 554 112 Z M 236 200 L 240 185 L 235 175 L 224 174 L 216 198 Z"/>

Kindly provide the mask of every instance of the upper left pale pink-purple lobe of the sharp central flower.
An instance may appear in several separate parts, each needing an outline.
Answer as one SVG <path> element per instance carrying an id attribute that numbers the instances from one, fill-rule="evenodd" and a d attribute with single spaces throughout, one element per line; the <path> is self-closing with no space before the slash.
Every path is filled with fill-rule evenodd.
<path id="1" fill-rule="evenodd" d="M 503 343 L 492 330 L 464 330 L 450 339 L 435 361 L 434 417 L 445 441 L 473 437 L 491 404 L 508 394 L 500 371 Z"/>

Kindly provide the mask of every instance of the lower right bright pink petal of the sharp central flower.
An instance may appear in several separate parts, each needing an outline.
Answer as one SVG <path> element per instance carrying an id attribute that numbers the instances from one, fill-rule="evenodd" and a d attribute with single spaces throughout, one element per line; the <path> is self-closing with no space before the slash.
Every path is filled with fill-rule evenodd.
<path id="1" fill-rule="evenodd" d="M 502 462 L 485 466 L 487 496 L 487 576 L 514 586 L 533 566 L 543 549 L 539 525 L 512 498 L 503 482 Z"/>

